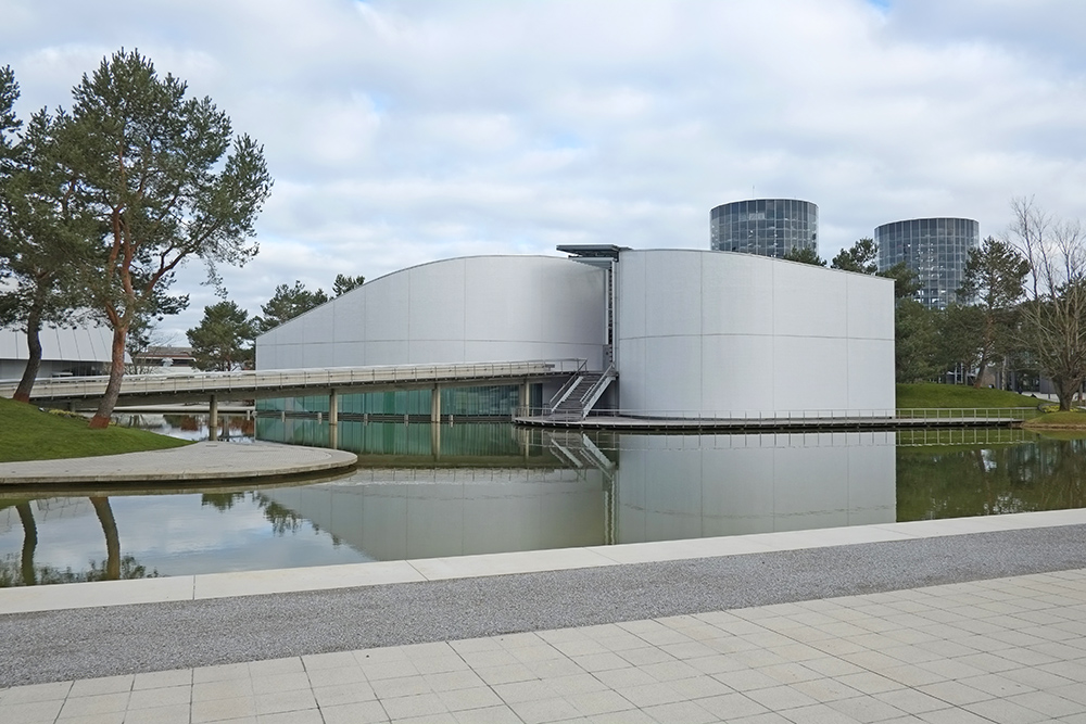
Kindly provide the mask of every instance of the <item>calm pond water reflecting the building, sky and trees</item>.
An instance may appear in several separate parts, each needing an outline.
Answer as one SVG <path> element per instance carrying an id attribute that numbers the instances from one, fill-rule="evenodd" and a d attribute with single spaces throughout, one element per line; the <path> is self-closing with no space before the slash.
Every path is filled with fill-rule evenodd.
<path id="1" fill-rule="evenodd" d="M 313 420 L 257 425 L 265 440 L 328 434 Z M 586 435 L 341 422 L 339 443 L 362 467 L 328 482 L 4 494 L 0 585 L 1086 506 L 1086 441 L 1020 430 Z"/>

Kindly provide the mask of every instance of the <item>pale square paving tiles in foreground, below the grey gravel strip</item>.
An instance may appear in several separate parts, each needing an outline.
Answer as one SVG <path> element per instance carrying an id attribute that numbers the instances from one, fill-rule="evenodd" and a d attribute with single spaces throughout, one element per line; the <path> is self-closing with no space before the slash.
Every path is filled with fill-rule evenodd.
<path id="1" fill-rule="evenodd" d="M 14 687 L 0 721 L 1086 724 L 1083 621 L 1070 571 Z"/>

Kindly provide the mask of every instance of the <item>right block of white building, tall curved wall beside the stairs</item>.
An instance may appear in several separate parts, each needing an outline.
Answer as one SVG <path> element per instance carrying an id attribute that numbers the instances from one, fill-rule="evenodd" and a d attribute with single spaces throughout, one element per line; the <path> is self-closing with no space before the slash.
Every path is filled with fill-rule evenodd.
<path id="1" fill-rule="evenodd" d="M 721 414 L 894 408 L 894 287 L 752 254 L 622 252 L 621 407 Z"/>

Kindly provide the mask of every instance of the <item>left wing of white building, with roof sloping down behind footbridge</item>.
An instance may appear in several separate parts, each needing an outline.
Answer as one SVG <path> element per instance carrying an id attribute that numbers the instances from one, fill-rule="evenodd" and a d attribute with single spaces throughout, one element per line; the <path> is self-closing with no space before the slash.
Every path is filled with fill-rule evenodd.
<path id="1" fill-rule="evenodd" d="M 256 340 L 257 369 L 603 359 L 604 270 L 469 256 L 387 275 Z"/>

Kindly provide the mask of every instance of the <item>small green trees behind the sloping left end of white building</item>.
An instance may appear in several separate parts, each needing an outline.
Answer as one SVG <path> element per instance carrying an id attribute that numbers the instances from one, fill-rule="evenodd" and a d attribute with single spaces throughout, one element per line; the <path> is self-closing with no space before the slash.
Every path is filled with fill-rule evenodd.
<path id="1" fill-rule="evenodd" d="M 329 296 L 323 289 L 311 291 L 301 281 L 293 287 L 279 284 L 261 314 L 250 317 L 230 301 L 204 307 L 203 319 L 186 332 L 195 366 L 203 370 L 227 371 L 251 366 L 257 334 L 262 334 L 310 309 L 361 287 L 364 277 L 337 275 Z"/>

